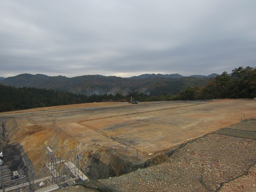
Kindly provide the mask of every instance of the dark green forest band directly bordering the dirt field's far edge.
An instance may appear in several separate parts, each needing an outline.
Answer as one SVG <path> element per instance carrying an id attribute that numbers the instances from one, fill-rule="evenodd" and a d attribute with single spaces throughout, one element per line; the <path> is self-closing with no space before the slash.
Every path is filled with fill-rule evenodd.
<path id="1" fill-rule="evenodd" d="M 150 94 L 135 90 L 125 96 L 119 93 L 87 96 L 53 89 L 16 88 L 0 84 L 0 112 L 85 102 L 127 102 L 131 96 L 138 101 L 255 98 L 256 68 L 239 67 L 232 70 L 231 75 L 223 72 L 212 78 L 206 86 L 186 87 L 177 95 L 172 95 L 167 87 L 163 94 L 158 95 L 158 82 L 155 84 L 155 89 Z"/>

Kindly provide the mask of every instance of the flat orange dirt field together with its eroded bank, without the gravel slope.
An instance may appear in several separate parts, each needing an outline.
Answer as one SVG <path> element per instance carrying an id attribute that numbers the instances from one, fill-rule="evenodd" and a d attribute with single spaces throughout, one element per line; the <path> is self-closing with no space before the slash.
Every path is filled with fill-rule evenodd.
<path id="1" fill-rule="evenodd" d="M 88 158 L 84 172 L 100 179 L 162 163 L 183 143 L 255 118 L 255 106 L 255 100 L 245 99 L 85 103 L 1 113 L 0 118 L 8 120 L 10 143 L 23 145 L 34 165 L 46 163 L 40 158 L 46 156 L 45 146 L 71 144 Z"/>

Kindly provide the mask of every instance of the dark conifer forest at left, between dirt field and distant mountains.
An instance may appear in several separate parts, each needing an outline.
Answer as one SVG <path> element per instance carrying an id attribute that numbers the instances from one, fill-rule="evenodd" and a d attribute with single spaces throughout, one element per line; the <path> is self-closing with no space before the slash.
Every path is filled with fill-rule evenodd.
<path id="1" fill-rule="evenodd" d="M 0 112 L 83 103 L 89 101 L 85 95 L 35 89 L 15 88 L 0 84 Z"/>

